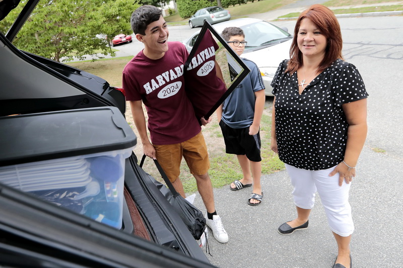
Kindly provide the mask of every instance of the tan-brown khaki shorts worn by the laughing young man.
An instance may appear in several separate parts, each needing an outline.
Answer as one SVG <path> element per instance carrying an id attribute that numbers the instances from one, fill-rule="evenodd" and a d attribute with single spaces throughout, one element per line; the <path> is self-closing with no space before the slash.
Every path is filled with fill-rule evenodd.
<path id="1" fill-rule="evenodd" d="M 187 141 L 168 145 L 154 145 L 154 148 L 158 162 L 172 183 L 179 177 L 182 156 L 193 175 L 206 174 L 210 168 L 207 146 L 201 131 Z"/>

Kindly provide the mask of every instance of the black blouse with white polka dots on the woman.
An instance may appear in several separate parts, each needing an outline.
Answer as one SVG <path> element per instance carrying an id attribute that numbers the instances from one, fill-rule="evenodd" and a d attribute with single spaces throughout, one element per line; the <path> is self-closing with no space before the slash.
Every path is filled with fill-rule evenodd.
<path id="1" fill-rule="evenodd" d="M 297 72 L 280 63 L 272 81 L 280 159 L 297 168 L 320 170 L 342 162 L 347 121 L 342 105 L 367 98 L 357 68 L 341 59 L 321 72 L 299 95 Z"/>

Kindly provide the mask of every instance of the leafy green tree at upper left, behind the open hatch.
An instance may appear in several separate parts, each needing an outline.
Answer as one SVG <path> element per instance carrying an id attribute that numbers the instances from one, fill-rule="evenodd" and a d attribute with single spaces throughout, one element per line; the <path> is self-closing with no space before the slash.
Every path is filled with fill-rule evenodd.
<path id="1" fill-rule="evenodd" d="M 9 29 L 26 2 L 22 0 L 2 21 L 0 31 Z M 130 15 L 137 7 L 132 0 L 42 0 L 13 44 L 55 61 L 96 53 L 114 56 L 108 43 L 117 34 L 132 33 Z"/>

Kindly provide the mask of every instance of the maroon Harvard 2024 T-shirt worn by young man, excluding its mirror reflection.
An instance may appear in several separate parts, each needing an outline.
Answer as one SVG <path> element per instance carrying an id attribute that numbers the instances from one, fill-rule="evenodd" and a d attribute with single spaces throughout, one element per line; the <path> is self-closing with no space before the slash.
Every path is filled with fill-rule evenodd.
<path id="1" fill-rule="evenodd" d="M 168 47 L 157 60 L 141 51 L 123 69 L 126 100 L 145 104 L 155 145 L 184 142 L 201 131 L 184 90 L 187 50 L 180 42 L 168 42 Z"/>

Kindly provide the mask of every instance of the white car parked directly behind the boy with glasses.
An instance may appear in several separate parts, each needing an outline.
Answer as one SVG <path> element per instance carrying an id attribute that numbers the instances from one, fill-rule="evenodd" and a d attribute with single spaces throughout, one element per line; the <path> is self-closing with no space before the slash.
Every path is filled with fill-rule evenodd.
<path id="1" fill-rule="evenodd" d="M 265 86 L 264 93 L 266 96 L 273 96 L 273 88 L 270 84 L 280 62 L 290 58 L 292 35 L 287 32 L 287 29 L 253 18 L 236 19 L 213 25 L 219 34 L 226 27 L 239 27 L 243 30 L 245 41 L 248 43 L 242 57 L 257 64 Z M 199 33 L 200 31 L 195 32 L 183 42 L 189 52 Z"/>

